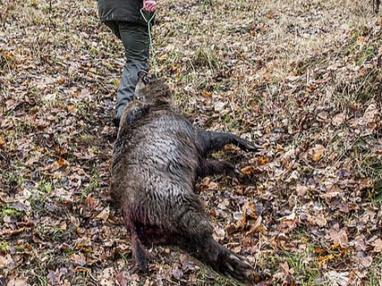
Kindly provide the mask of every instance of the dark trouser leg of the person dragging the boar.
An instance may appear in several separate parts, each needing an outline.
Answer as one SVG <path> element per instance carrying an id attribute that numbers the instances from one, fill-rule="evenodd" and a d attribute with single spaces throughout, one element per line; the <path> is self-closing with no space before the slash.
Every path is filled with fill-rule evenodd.
<path id="1" fill-rule="evenodd" d="M 125 48 L 126 64 L 122 71 L 115 105 L 113 123 L 119 124 L 122 111 L 134 96 L 139 71 L 149 71 L 149 33 L 147 26 L 119 23 L 119 35 Z"/>

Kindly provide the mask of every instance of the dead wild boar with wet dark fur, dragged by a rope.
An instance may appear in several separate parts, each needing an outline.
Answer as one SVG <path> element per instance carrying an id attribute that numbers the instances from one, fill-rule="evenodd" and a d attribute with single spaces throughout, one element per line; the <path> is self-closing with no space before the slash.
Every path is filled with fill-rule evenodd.
<path id="1" fill-rule="evenodd" d="M 197 194 L 198 177 L 244 179 L 231 163 L 208 158 L 226 144 L 256 152 L 258 145 L 229 133 L 198 129 L 181 115 L 169 87 L 140 73 L 136 97 L 124 109 L 113 150 L 110 192 L 122 209 L 133 257 L 147 268 L 144 244 L 175 244 L 222 274 L 249 282 L 253 267 L 213 239 Z"/>

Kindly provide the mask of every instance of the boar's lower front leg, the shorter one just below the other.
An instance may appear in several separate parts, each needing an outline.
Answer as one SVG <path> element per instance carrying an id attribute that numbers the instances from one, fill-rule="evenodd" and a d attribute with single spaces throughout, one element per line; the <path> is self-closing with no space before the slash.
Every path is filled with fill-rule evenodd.
<path id="1" fill-rule="evenodd" d="M 198 176 L 206 177 L 210 175 L 229 175 L 230 177 L 238 179 L 240 183 L 244 183 L 246 181 L 245 175 L 238 170 L 231 163 L 226 161 L 219 161 L 213 159 L 206 159 L 201 162 L 201 166 L 199 166 Z"/>

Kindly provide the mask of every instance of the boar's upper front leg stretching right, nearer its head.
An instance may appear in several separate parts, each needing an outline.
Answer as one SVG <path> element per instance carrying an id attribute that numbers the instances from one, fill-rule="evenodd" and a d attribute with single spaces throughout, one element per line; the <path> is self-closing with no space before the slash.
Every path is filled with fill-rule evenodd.
<path id="1" fill-rule="evenodd" d="M 240 138 L 231 133 L 210 132 L 199 130 L 199 139 L 202 143 L 202 148 L 205 156 L 208 156 L 214 150 L 219 150 L 227 144 L 238 146 L 241 150 L 247 152 L 257 152 L 262 148 L 259 145 L 251 143 L 243 138 Z"/>

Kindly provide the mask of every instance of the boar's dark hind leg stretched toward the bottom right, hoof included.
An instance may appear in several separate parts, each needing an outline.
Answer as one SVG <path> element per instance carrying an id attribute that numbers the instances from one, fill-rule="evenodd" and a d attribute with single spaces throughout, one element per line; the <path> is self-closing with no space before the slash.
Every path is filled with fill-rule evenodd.
<path id="1" fill-rule="evenodd" d="M 188 251 L 201 262 L 205 262 L 229 278 L 235 278 L 244 283 L 254 282 L 254 268 L 243 258 L 217 243 L 212 236 L 197 240 L 194 245 L 190 245 L 189 242 Z"/>

